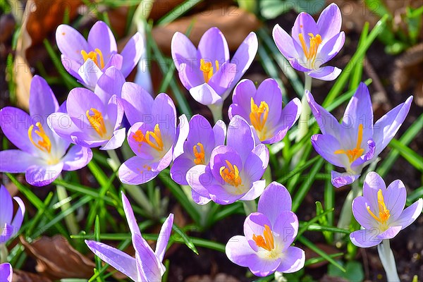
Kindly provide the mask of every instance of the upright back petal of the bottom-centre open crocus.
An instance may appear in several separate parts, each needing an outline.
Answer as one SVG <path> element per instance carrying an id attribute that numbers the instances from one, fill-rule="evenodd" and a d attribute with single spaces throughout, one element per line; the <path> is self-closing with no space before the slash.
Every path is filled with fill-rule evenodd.
<path id="1" fill-rule="evenodd" d="M 275 207 L 278 207 L 275 209 Z M 283 211 L 290 211 L 292 200 L 285 186 L 277 182 L 270 183 L 259 198 L 257 212 L 267 216 L 272 226 Z"/>

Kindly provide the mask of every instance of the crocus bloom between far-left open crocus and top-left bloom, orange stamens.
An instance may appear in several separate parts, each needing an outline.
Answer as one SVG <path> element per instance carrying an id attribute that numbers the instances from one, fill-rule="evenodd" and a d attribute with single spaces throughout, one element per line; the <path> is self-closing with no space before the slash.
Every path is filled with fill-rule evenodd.
<path id="1" fill-rule="evenodd" d="M 63 139 L 83 147 L 116 149 L 125 140 L 121 127 L 121 90 L 125 78 L 115 67 L 99 78 L 94 92 L 73 88 L 66 100 L 66 113 L 49 117 L 51 128 Z M 64 107 L 64 106 L 63 106 Z"/>

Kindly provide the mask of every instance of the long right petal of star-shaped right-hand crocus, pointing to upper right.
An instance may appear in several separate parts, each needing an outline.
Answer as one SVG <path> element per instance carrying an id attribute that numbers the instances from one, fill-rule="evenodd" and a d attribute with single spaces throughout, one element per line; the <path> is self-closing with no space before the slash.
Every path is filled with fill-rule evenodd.
<path id="1" fill-rule="evenodd" d="M 412 102 L 412 96 L 403 104 L 399 104 L 395 108 L 388 111 L 387 114 L 379 118 L 376 123 L 374 123 L 374 142 L 376 142 L 376 152 L 374 154 L 379 155 L 391 139 L 396 135 L 401 124 L 403 124 L 405 117 L 410 111 L 410 106 Z"/>

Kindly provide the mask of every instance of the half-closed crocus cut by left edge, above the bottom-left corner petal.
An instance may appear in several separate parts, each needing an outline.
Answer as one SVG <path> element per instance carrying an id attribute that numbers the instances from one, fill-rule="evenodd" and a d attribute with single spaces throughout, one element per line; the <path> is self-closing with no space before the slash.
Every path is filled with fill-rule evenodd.
<path id="1" fill-rule="evenodd" d="M 18 205 L 19 209 L 13 216 L 13 202 L 12 197 L 9 194 L 6 187 L 0 186 L 0 245 L 6 243 L 11 237 L 18 233 L 20 226 L 22 225 L 23 216 L 25 215 L 25 204 L 20 200 L 20 197 L 13 197 Z M 3 281 L 3 280 L 0 280 Z"/>

